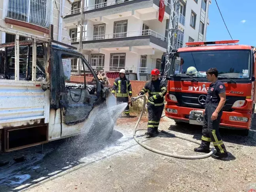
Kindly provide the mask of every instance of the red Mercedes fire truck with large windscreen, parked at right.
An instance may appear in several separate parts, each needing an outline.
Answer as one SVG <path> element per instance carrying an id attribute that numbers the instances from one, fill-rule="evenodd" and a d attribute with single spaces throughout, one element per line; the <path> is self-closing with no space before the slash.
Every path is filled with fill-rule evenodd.
<path id="1" fill-rule="evenodd" d="M 218 79 L 226 87 L 226 103 L 220 127 L 240 129 L 248 135 L 255 107 L 255 58 L 248 45 L 209 45 L 238 41 L 190 42 L 173 50 L 170 57 L 166 116 L 175 122 L 203 124 L 202 111 L 209 83 L 206 71 L 217 68 Z M 171 58 L 172 57 L 172 58 Z M 191 70 L 195 69 L 195 70 Z"/>

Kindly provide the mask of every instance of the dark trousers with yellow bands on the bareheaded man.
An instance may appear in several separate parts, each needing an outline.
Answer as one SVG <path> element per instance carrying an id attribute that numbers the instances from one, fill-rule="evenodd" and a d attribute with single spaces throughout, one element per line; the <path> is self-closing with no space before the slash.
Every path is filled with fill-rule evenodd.
<path id="1" fill-rule="evenodd" d="M 217 105 L 213 105 L 211 102 L 205 105 L 201 147 L 209 149 L 210 143 L 213 142 L 218 154 L 227 154 L 228 152 L 226 151 L 219 132 L 222 110 L 218 113 L 216 120 L 211 120 L 211 116 L 213 115 L 216 107 Z"/>

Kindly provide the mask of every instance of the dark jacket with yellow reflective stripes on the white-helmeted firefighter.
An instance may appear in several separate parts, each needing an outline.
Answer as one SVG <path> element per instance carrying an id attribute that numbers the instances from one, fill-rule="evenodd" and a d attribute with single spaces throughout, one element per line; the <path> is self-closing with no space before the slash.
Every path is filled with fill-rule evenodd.
<path id="1" fill-rule="evenodd" d="M 115 94 L 115 92 L 117 93 L 117 97 L 132 96 L 132 85 L 130 81 L 126 77 L 123 79 L 117 77 L 112 87 L 112 93 Z"/>

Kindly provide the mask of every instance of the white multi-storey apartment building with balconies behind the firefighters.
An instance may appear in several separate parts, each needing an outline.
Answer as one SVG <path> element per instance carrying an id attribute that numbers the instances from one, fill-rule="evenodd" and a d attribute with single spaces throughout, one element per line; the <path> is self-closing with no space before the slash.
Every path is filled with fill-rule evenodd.
<path id="1" fill-rule="evenodd" d="M 71 44 L 79 48 L 82 43 L 82 53 L 94 69 L 119 71 L 124 68 L 139 73 L 140 79 L 145 80 L 143 74 L 150 73 L 152 68 L 160 69 L 162 54 L 168 47 L 169 3 L 164 1 L 160 22 L 160 0 L 85 0 L 84 6 L 75 0 L 64 22 Z M 209 0 L 181 0 L 179 47 L 187 41 L 205 40 L 209 4 Z M 72 63 L 73 74 L 77 74 L 78 64 Z"/>

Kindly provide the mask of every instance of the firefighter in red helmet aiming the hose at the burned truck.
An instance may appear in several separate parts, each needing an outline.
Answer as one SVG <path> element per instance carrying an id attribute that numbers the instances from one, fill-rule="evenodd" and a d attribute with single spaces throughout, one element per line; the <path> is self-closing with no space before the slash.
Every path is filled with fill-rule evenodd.
<path id="1" fill-rule="evenodd" d="M 146 83 L 144 88 L 139 92 L 143 95 L 149 93 L 147 102 L 147 109 L 149 113 L 149 120 L 147 124 L 147 138 L 153 137 L 154 133 L 158 134 L 159 122 L 164 110 L 164 96 L 167 93 L 166 83 L 159 79 L 160 71 L 153 69 L 151 71 L 152 80 Z"/>

